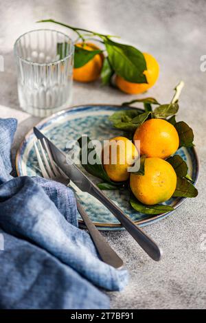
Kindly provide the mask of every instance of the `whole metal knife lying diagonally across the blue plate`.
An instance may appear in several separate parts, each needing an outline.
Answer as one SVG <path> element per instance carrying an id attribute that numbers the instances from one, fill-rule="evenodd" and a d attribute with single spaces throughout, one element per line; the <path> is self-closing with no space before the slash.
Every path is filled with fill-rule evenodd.
<path id="1" fill-rule="evenodd" d="M 155 241 L 152 240 L 144 231 L 142 231 L 122 210 L 113 203 L 106 195 L 95 186 L 95 184 L 86 176 L 84 173 L 72 163 L 72 161 L 68 162 L 67 155 L 60 151 L 41 131 L 39 131 L 36 127 L 34 127 L 34 134 L 40 140 L 45 138 L 50 151 L 52 153 L 52 157 L 58 167 L 62 169 L 63 172 L 73 181 L 73 183 L 80 188 L 83 192 L 88 192 L 93 197 L 98 199 L 102 204 L 110 210 L 113 215 L 119 220 L 122 226 L 135 238 L 137 243 L 141 246 L 142 249 L 150 256 L 153 260 L 159 261 L 161 259 L 161 249 L 159 249 L 158 245 Z"/>

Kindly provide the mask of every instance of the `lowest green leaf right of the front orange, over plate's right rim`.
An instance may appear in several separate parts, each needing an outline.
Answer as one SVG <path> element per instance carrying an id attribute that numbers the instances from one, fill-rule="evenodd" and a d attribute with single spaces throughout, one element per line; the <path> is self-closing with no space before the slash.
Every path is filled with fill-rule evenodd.
<path id="1" fill-rule="evenodd" d="M 172 197 L 196 197 L 198 190 L 185 178 L 177 177 L 176 190 Z"/>

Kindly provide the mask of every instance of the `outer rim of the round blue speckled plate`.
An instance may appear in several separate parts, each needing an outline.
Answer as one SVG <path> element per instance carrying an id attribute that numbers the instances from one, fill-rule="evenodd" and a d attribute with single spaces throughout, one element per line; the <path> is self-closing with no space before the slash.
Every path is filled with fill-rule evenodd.
<path id="1" fill-rule="evenodd" d="M 118 104 L 80 104 L 80 105 L 75 105 L 72 107 L 69 107 L 68 109 L 62 110 L 62 111 L 58 111 L 57 113 L 53 113 L 52 115 L 49 115 L 47 118 L 44 118 L 43 120 L 41 120 L 40 122 L 38 122 L 36 124 L 36 127 L 38 129 L 42 129 L 43 126 L 45 126 L 45 124 L 47 124 L 49 121 L 52 121 L 55 118 L 58 118 L 60 115 L 64 115 L 65 113 L 67 113 L 68 111 L 75 111 L 78 110 L 80 111 L 81 109 L 85 109 L 88 107 L 112 107 L 112 108 L 122 108 L 121 105 Z M 138 109 L 140 111 L 143 111 L 143 109 L 140 108 L 135 108 L 135 107 L 128 107 L 129 109 Z M 23 174 L 21 174 L 21 156 L 23 155 L 23 151 L 25 151 L 25 147 L 27 146 L 27 142 L 30 138 L 31 135 L 33 135 L 33 129 L 31 129 L 30 131 L 28 131 L 28 133 L 25 135 L 23 141 L 21 142 L 19 149 L 16 152 L 16 173 L 18 176 L 23 176 Z M 194 154 L 194 157 L 196 159 L 196 178 L 194 180 L 194 185 L 197 183 L 198 180 L 198 173 L 199 173 L 199 161 L 198 161 L 198 155 L 196 153 L 196 149 L 194 147 L 190 148 L 192 149 L 192 152 Z M 148 219 L 144 219 L 141 221 L 134 221 L 136 224 L 138 224 L 140 227 L 144 227 L 146 225 L 150 225 L 152 223 L 156 223 L 157 221 L 160 221 L 161 219 L 165 219 L 167 216 L 170 216 L 171 214 L 174 213 L 174 211 L 176 210 L 176 208 L 179 208 L 179 206 L 181 204 L 183 204 L 185 202 L 187 198 L 183 197 L 181 198 L 178 203 L 176 203 L 176 205 L 174 205 L 174 210 L 170 211 L 170 212 L 166 212 L 163 214 L 159 214 L 159 215 L 155 215 L 152 216 Z M 82 220 L 78 220 L 78 222 L 80 223 L 80 225 L 83 225 L 84 221 Z M 100 230 L 124 230 L 124 227 L 122 227 L 122 225 L 120 223 L 96 223 L 93 222 L 97 227 L 100 228 Z"/>

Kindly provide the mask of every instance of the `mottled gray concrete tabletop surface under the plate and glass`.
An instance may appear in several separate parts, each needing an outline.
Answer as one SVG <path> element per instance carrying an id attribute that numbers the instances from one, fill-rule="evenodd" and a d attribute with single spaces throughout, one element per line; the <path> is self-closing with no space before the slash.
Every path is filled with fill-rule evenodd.
<path id="1" fill-rule="evenodd" d="M 0 104 L 12 109 L 0 107 L 0 117 L 19 119 L 14 150 L 38 118 L 19 111 L 12 46 L 23 32 L 46 27 L 34 22 L 49 17 L 99 32 L 118 34 L 124 41 L 153 54 L 159 61 L 160 76 L 157 85 L 146 95 L 168 102 L 174 85 L 179 80 L 185 81 L 179 120 L 185 120 L 194 129 L 201 161 L 198 197 L 187 199 L 168 219 L 144 229 L 163 247 L 160 263 L 150 260 L 127 232 L 104 234 L 130 271 L 128 287 L 121 293 L 108 295 L 113 309 L 205 308 L 206 72 L 200 69 L 200 58 L 206 54 L 205 0 L 1 1 L 0 54 L 5 59 L 5 71 L 0 72 Z M 99 82 L 74 86 L 73 104 L 117 104 L 125 100 L 128 96 L 115 89 L 102 88 Z"/>

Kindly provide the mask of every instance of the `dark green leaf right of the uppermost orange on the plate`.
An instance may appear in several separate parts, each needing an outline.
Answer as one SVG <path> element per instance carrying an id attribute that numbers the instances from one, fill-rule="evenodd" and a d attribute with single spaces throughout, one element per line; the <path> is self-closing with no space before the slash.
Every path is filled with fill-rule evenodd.
<path id="1" fill-rule="evenodd" d="M 184 121 L 176 122 L 174 125 L 176 131 L 179 134 L 179 146 L 180 147 L 192 147 L 194 146 L 194 133 L 190 126 L 186 124 Z"/>

